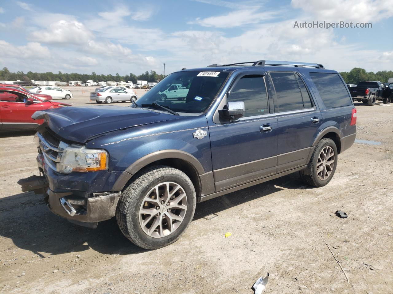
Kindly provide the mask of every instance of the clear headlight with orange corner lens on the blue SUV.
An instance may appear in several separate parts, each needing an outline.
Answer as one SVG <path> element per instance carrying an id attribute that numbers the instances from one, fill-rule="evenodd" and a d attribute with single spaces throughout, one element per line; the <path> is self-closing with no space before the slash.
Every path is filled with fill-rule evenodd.
<path id="1" fill-rule="evenodd" d="M 103 171 L 108 169 L 108 152 L 100 149 L 87 149 L 70 145 L 64 149 L 57 171 L 71 172 Z"/>

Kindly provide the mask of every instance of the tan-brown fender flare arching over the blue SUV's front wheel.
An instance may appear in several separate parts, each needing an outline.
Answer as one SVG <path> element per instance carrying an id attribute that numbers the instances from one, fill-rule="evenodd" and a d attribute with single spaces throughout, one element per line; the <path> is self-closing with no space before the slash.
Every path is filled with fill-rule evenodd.
<path id="1" fill-rule="evenodd" d="M 202 164 L 195 158 L 195 156 L 181 151 L 181 150 L 176 150 L 176 149 L 167 149 L 167 150 L 160 150 L 156 152 L 152 152 L 150 154 L 147 154 L 140 159 L 136 160 L 134 163 L 132 163 L 125 171 L 121 173 L 119 178 L 116 180 L 112 187 L 112 191 L 121 191 L 123 190 L 124 186 L 127 184 L 127 182 L 130 180 L 130 178 L 136 174 L 140 169 L 145 167 L 146 165 L 149 165 L 152 162 L 155 162 L 157 160 L 161 159 L 167 159 L 167 158 L 177 158 L 181 159 L 184 161 L 187 161 L 190 163 L 196 170 L 199 176 L 205 174 L 205 169 L 203 168 Z"/>

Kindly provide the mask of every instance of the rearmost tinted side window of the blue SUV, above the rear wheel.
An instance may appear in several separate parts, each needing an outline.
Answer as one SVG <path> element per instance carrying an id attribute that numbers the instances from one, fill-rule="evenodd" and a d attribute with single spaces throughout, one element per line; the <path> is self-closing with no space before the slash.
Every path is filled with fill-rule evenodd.
<path id="1" fill-rule="evenodd" d="M 310 73 L 310 77 L 327 108 L 352 105 L 347 87 L 334 73 Z"/>

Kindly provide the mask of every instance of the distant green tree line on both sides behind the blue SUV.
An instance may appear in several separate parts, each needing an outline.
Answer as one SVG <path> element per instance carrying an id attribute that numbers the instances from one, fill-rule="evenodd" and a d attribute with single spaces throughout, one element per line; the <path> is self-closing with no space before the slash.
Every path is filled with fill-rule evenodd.
<path id="1" fill-rule="evenodd" d="M 366 72 L 365 69 L 360 67 L 354 67 L 351 71 L 343 71 L 340 73 L 346 83 L 349 84 L 358 84 L 360 81 L 381 81 L 383 83 L 387 83 L 389 78 L 393 78 L 393 71 L 378 71 L 373 73 L 372 71 Z M 35 81 L 60 81 L 66 82 L 69 81 L 83 81 L 93 80 L 93 82 L 127 82 L 132 81 L 132 83 L 136 83 L 136 80 L 143 80 L 147 82 L 158 82 L 164 78 L 163 74 L 157 74 L 155 71 L 146 71 L 139 76 L 136 76 L 133 73 L 126 74 L 125 76 L 121 76 L 118 73 L 114 76 L 112 74 L 79 74 L 79 73 L 62 73 L 59 71 L 57 74 L 47 72 L 47 73 L 33 73 L 29 71 L 28 73 L 24 73 L 23 71 L 17 71 L 16 73 L 11 73 L 7 67 L 4 67 L 0 70 L 0 80 L 6 81 L 15 81 L 21 80 L 29 82 L 30 80 Z"/>

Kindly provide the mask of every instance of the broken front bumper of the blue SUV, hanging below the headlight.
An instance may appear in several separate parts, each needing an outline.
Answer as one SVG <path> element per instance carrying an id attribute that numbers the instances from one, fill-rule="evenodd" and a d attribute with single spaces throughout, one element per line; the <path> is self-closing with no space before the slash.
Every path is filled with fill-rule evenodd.
<path id="1" fill-rule="evenodd" d="M 97 227 L 99 221 L 109 220 L 115 216 L 121 192 L 96 192 L 88 189 L 92 187 L 92 182 L 97 183 L 100 179 L 99 182 L 105 182 L 106 177 L 103 174 L 95 176 L 95 172 L 78 174 L 78 176 L 59 174 L 46 165 L 42 153 L 37 156 L 37 164 L 44 176 L 21 179 L 18 184 L 22 186 L 24 192 L 44 194 L 48 208 L 54 214 L 77 225 L 92 228 Z M 110 178 L 110 172 L 107 174 Z M 77 187 L 82 189 L 71 190 L 70 187 L 75 187 L 75 184 L 80 185 Z M 99 188 L 100 185 L 94 187 Z M 105 188 L 105 185 L 101 188 Z"/>

